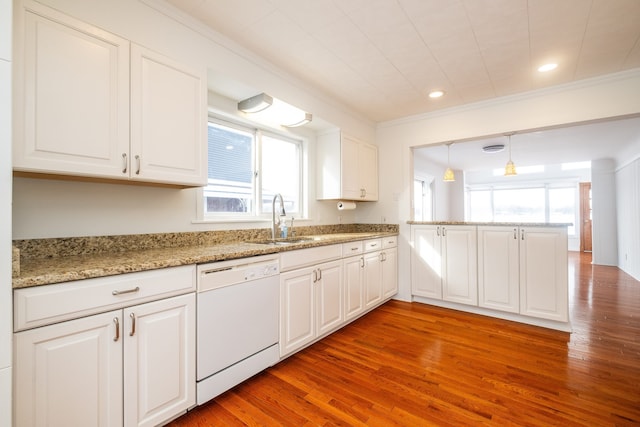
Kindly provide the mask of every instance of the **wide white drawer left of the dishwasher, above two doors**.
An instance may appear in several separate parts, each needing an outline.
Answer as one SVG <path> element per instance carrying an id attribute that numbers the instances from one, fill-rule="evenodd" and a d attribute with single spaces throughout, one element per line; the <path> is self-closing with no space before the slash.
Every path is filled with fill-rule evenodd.
<path id="1" fill-rule="evenodd" d="M 14 331 L 30 329 L 196 289 L 196 266 L 16 289 Z"/>

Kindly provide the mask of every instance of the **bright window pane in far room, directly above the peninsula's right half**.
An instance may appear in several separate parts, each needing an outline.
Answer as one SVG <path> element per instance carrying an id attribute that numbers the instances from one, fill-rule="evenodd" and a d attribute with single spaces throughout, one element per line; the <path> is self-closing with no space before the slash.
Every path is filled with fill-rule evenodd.
<path id="1" fill-rule="evenodd" d="M 494 190 L 494 221 L 545 222 L 545 189 Z"/>

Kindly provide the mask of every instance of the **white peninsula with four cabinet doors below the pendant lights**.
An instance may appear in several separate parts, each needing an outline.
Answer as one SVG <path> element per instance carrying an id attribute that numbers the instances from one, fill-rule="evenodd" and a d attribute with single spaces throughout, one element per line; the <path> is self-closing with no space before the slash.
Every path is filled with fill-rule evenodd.
<path id="1" fill-rule="evenodd" d="M 408 224 L 413 301 L 571 331 L 569 224 Z"/>

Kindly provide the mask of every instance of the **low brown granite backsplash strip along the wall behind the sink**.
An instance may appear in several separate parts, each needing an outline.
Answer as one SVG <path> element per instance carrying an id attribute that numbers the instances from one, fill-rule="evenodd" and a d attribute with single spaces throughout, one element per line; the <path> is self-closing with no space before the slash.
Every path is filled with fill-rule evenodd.
<path id="1" fill-rule="evenodd" d="M 398 232 L 398 224 L 335 224 L 295 227 L 297 236 L 334 233 Z M 14 240 L 20 259 L 53 258 L 141 249 L 209 246 L 222 243 L 268 239 L 269 228 L 198 231 L 185 233 L 129 234 L 118 236 L 65 237 Z M 14 252 L 15 253 L 15 252 Z"/>

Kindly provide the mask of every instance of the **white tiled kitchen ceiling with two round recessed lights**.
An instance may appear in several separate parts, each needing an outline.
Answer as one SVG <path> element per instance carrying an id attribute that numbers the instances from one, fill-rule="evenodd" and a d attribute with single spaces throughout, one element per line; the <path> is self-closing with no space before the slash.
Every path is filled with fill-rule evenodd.
<path id="1" fill-rule="evenodd" d="M 640 67 L 638 0 L 168 1 L 373 122 Z"/>

